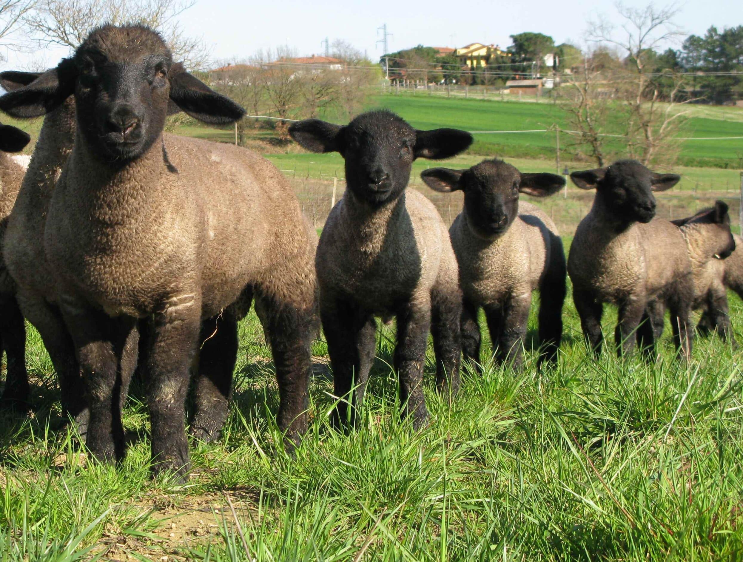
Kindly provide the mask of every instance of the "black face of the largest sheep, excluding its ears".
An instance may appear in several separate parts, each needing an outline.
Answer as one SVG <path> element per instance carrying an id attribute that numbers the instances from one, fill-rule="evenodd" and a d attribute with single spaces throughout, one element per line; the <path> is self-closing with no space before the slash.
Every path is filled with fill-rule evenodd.
<path id="1" fill-rule="evenodd" d="M 76 108 L 80 130 L 107 160 L 132 160 L 160 135 L 169 99 L 170 53 L 142 27 L 104 27 L 78 48 Z"/>

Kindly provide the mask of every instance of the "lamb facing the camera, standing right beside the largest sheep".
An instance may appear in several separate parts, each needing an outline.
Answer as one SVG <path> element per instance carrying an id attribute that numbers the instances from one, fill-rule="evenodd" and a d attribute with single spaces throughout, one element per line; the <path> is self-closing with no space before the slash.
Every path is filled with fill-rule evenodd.
<path id="1" fill-rule="evenodd" d="M 368 111 L 344 126 L 304 120 L 289 133 L 309 151 L 336 151 L 345 159 L 347 189 L 328 216 L 315 262 L 320 320 L 340 399 L 334 423 L 357 418 L 353 407 L 363 399 L 374 361 L 374 316 L 395 316 L 401 413 L 422 428 L 429 331 L 439 391 L 458 388 L 461 291 L 444 221 L 424 195 L 406 186 L 413 160 L 452 157 L 470 146 L 472 136 L 418 131 L 390 111 Z"/>

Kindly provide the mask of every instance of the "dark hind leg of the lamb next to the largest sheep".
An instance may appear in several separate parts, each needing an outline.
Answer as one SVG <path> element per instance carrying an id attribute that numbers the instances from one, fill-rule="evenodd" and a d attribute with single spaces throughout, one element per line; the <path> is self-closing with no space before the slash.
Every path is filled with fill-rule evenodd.
<path id="1" fill-rule="evenodd" d="M 432 293 L 431 334 L 436 357 L 436 388 L 454 396 L 459 391 L 462 296 L 458 287 Z"/>

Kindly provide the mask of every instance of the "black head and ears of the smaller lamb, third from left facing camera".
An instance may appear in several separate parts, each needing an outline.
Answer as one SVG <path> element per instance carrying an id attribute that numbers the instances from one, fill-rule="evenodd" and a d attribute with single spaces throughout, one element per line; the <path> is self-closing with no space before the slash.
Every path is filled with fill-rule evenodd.
<path id="1" fill-rule="evenodd" d="M 433 168 L 421 177 L 439 192 L 464 191 L 464 212 L 473 235 L 495 240 L 519 215 L 519 193 L 545 197 L 565 186 L 555 174 L 522 174 L 502 160 L 484 160 L 470 169 Z"/>

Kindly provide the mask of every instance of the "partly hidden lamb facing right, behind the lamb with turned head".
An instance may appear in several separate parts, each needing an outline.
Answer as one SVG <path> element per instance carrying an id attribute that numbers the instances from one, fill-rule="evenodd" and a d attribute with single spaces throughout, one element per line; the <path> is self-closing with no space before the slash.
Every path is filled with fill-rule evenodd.
<path id="1" fill-rule="evenodd" d="M 671 222 L 681 229 L 689 248 L 694 275 L 692 308 L 704 310 L 698 330 L 701 333 L 717 331 L 723 340 L 730 339 L 734 344 L 725 285 L 726 273 L 735 271 L 739 258 L 733 258 L 737 244 L 730 232 L 727 203 L 718 200 L 713 207 Z M 656 333 L 662 329 L 660 322 Z"/>

